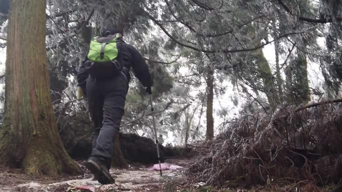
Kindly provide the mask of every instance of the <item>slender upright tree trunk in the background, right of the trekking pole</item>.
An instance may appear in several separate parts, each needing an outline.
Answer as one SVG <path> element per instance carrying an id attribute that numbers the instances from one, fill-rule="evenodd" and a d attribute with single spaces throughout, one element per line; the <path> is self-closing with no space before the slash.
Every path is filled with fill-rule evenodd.
<path id="1" fill-rule="evenodd" d="M 210 68 L 206 77 L 207 99 L 206 99 L 206 139 L 213 139 L 213 117 L 212 117 L 212 103 L 213 103 L 213 69 Z"/>

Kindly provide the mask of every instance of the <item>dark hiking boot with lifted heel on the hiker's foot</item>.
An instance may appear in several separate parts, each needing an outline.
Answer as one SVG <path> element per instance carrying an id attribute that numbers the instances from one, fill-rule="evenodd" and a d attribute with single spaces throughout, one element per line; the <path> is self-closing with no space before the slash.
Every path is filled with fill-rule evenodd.
<path id="1" fill-rule="evenodd" d="M 110 176 L 105 164 L 100 160 L 90 157 L 85 163 L 85 167 L 94 175 L 98 183 L 102 185 L 114 183 L 114 179 Z"/>

